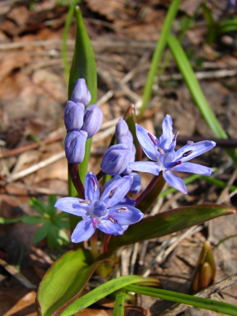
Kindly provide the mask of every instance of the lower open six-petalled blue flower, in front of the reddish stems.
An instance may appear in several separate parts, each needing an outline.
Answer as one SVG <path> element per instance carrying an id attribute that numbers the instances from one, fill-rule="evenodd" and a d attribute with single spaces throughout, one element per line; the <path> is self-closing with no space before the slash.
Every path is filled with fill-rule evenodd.
<path id="1" fill-rule="evenodd" d="M 144 214 L 139 209 L 127 204 L 118 205 L 131 185 L 132 177 L 125 176 L 113 181 L 100 196 L 96 176 L 88 172 L 85 177 L 85 199 L 58 199 L 55 207 L 83 218 L 72 234 L 72 242 L 90 238 L 96 228 L 106 234 L 122 235 L 127 225 L 140 221 Z"/>

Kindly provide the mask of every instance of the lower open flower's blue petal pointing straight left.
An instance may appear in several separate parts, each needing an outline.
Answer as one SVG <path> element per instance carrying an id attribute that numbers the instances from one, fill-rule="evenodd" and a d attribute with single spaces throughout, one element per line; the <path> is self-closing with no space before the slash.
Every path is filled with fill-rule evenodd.
<path id="1" fill-rule="evenodd" d="M 54 206 L 73 215 L 86 216 L 90 214 L 92 205 L 83 201 L 83 199 L 77 197 L 62 197 L 56 201 Z"/>

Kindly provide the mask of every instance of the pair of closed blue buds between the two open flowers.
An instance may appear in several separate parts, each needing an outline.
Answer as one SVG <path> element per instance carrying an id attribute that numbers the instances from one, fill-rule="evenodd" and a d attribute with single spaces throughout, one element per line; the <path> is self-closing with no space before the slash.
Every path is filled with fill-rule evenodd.
<path id="1" fill-rule="evenodd" d="M 100 165 L 101 169 L 112 176 L 120 173 L 129 174 L 132 170 L 128 168 L 128 163 L 135 160 L 136 149 L 132 134 L 122 118 L 118 120 L 116 125 L 115 136 L 117 144 L 106 151 Z"/>

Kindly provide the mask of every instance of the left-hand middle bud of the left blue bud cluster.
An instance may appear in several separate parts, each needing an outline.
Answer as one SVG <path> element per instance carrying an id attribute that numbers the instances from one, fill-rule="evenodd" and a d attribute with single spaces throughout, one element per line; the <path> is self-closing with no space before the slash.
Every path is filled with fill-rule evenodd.
<path id="1" fill-rule="evenodd" d="M 64 112 L 64 123 L 67 131 L 81 129 L 83 125 L 84 105 L 68 101 Z"/>

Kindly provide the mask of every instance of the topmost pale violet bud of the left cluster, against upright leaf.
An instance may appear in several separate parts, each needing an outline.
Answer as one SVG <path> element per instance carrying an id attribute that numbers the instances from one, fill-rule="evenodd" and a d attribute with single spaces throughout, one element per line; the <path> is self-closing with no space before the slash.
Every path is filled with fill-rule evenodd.
<path id="1" fill-rule="evenodd" d="M 83 103 L 85 106 L 90 102 L 91 96 L 87 89 L 84 78 L 80 78 L 76 81 L 73 87 L 71 95 L 71 101 L 75 103 Z"/>

